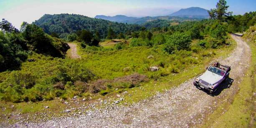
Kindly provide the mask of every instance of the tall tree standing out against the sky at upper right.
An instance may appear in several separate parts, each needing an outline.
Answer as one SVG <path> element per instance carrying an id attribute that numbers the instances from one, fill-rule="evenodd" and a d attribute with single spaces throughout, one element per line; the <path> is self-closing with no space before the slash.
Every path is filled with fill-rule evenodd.
<path id="1" fill-rule="evenodd" d="M 227 17 L 231 16 L 233 12 L 228 12 L 228 5 L 226 0 L 219 0 L 216 5 L 216 8 L 208 11 L 211 19 L 220 20 L 220 22 L 224 21 Z"/>

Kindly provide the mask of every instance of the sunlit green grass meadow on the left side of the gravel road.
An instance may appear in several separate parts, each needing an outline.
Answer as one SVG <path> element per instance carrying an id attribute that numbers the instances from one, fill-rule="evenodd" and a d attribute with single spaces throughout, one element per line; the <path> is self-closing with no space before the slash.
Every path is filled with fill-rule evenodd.
<path id="1" fill-rule="evenodd" d="M 99 98 L 116 97 L 116 94 L 127 91 L 128 93 L 124 96 L 124 101 L 133 103 L 153 96 L 157 92 L 163 92 L 165 89 L 178 86 L 188 78 L 197 76 L 197 74 L 204 72 L 204 67 L 207 66 L 212 59 L 227 56 L 234 47 L 235 44 L 220 49 L 199 49 L 199 51 L 197 51 L 198 53 L 181 51 L 173 55 L 165 54 L 161 49 L 161 45 L 156 47 L 132 47 L 106 52 L 88 51 L 78 47 L 78 54 L 82 56 L 82 60 L 62 60 L 34 54 L 29 58 L 34 58 L 36 61 L 23 63 L 21 71 L 35 73 L 34 75 L 37 78 L 36 83 L 46 84 L 46 86 L 52 86 L 52 84 L 49 83 L 49 78 L 54 76 L 56 65 L 60 65 L 61 63 L 67 65 L 72 63 L 84 65 L 96 74 L 97 79 L 113 80 L 117 77 L 131 75 L 135 72 L 147 75 L 150 78 L 149 82 L 142 82 L 140 85 L 133 88 L 119 88 L 115 90 L 115 87 L 113 87 L 112 89 L 101 90 L 101 92 L 97 94 L 86 92 L 81 95 L 81 97 L 92 97 L 92 100 L 96 100 Z M 153 55 L 154 58 L 148 59 L 147 57 L 149 55 Z M 198 62 L 193 63 L 193 61 L 190 61 L 194 59 Z M 174 63 L 178 65 L 182 64 L 178 74 L 169 72 L 169 70 L 171 70 L 170 68 L 174 66 Z M 160 70 L 150 72 L 148 71 L 150 66 L 159 66 Z M 130 67 L 130 70 L 124 72 L 123 69 L 126 67 Z M 0 76 L 4 76 L 3 78 L 1 77 L 1 80 L 8 81 L 8 77 L 11 74 L 11 72 L 0 73 Z M 74 94 L 75 93 L 72 93 L 69 96 L 72 97 Z M 129 96 L 129 94 L 131 94 L 131 96 Z M 0 101 L 0 103 L 0 113 L 2 117 L 5 117 L 3 116 L 4 114 L 18 112 L 33 115 L 38 112 L 44 112 L 44 106 L 50 106 L 48 111 L 58 113 L 66 107 L 56 99 L 35 103 L 11 103 L 4 101 Z M 120 104 L 122 104 L 122 102 Z M 15 107 L 12 107 L 12 105 Z M 59 109 L 59 107 L 62 108 Z"/>

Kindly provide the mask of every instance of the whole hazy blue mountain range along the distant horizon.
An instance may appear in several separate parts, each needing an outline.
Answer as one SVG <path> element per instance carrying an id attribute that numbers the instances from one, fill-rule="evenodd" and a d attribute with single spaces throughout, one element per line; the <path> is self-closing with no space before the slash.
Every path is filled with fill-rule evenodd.
<path id="1" fill-rule="evenodd" d="M 151 20 L 180 20 L 180 18 L 195 18 L 195 19 L 207 19 L 209 18 L 208 10 L 199 7 L 190 7 L 187 9 L 180 9 L 177 12 L 168 14 L 166 16 L 156 16 L 156 17 L 128 17 L 125 15 L 116 16 L 105 16 L 97 15 L 94 18 L 110 20 L 114 22 L 130 23 L 130 24 L 143 24 Z"/>

